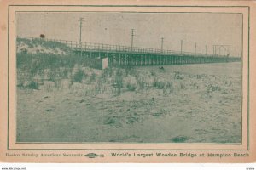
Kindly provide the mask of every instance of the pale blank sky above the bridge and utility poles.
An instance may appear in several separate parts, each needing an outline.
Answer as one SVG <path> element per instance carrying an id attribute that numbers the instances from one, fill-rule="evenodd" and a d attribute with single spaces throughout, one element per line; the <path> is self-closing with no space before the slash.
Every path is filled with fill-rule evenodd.
<path id="1" fill-rule="evenodd" d="M 212 54 L 212 45 L 230 45 L 230 55 L 241 55 L 242 15 L 213 13 L 121 12 L 19 12 L 16 35 L 79 42 L 79 18 L 83 17 L 82 42 L 134 46 Z"/>

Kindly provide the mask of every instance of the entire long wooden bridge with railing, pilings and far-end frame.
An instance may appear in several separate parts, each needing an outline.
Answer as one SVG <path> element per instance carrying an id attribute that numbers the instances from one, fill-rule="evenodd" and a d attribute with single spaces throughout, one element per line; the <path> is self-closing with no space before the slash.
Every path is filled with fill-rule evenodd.
<path id="1" fill-rule="evenodd" d="M 74 54 L 88 57 L 90 59 L 105 59 L 107 60 L 107 65 L 111 66 L 185 65 L 236 62 L 241 60 L 241 57 L 230 56 L 230 48 L 226 48 L 221 45 L 213 46 L 213 54 L 199 54 L 183 52 L 182 50 L 165 50 L 163 48 L 138 48 L 46 38 L 40 38 L 40 41 L 59 42 L 65 44 L 67 48 L 70 48 L 73 51 Z M 224 50 L 225 54 L 218 54 L 218 51 L 220 50 Z"/>

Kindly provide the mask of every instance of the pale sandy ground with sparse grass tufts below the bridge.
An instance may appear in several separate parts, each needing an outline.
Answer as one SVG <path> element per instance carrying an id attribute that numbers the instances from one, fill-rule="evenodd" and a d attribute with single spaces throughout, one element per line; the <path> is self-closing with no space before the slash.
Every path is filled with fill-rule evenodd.
<path id="1" fill-rule="evenodd" d="M 119 95 L 114 76 L 97 84 L 103 71 L 91 83 L 89 77 L 73 83 L 67 78 L 61 82 L 66 86 L 44 81 L 38 89 L 18 88 L 17 141 L 241 142 L 240 63 L 164 67 L 136 68 L 136 76 L 123 77 Z M 155 79 L 172 89 L 154 87 Z M 128 83 L 135 89 L 126 88 Z M 95 93 L 97 86 L 101 91 Z"/>

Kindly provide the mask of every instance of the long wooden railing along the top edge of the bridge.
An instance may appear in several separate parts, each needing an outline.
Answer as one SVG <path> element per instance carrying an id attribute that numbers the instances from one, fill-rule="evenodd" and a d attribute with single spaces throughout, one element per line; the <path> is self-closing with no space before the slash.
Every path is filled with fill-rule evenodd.
<path id="1" fill-rule="evenodd" d="M 74 42 L 60 39 L 49 39 L 49 38 L 38 38 L 38 37 L 17 37 L 17 38 L 26 38 L 29 40 L 37 41 L 46 41 L 46 42 L 60 42 L 65 44 L 67 47 L 72 48 L 77 51 L 96 51 L 96 52 L 129 52 L 137 54 L 166 54 L 166 55 L 190 55 L 190 56 L 202 56 L 210 57 L 212 54 L 199 54 L 199 53 L 190 53 L 190 52 L 181 52 L 173 50 L 161 50 L 159 48 L 140 48 L 131 46 L 122 46 L 122 45 L 112 45 L 106 43 L 92 43 L 92 42 Z M 214 57 L 226 57 L 226 55 L 214 55 Z"/>

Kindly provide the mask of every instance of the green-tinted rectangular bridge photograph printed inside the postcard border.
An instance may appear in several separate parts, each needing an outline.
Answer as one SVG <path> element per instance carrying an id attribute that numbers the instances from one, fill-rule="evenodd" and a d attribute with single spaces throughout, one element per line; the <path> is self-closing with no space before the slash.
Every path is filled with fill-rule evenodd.
<path id="1" fill-rule="evenodd" d="M 16 143 L 241 144 L 242 14 L 16 12 Z"/>

